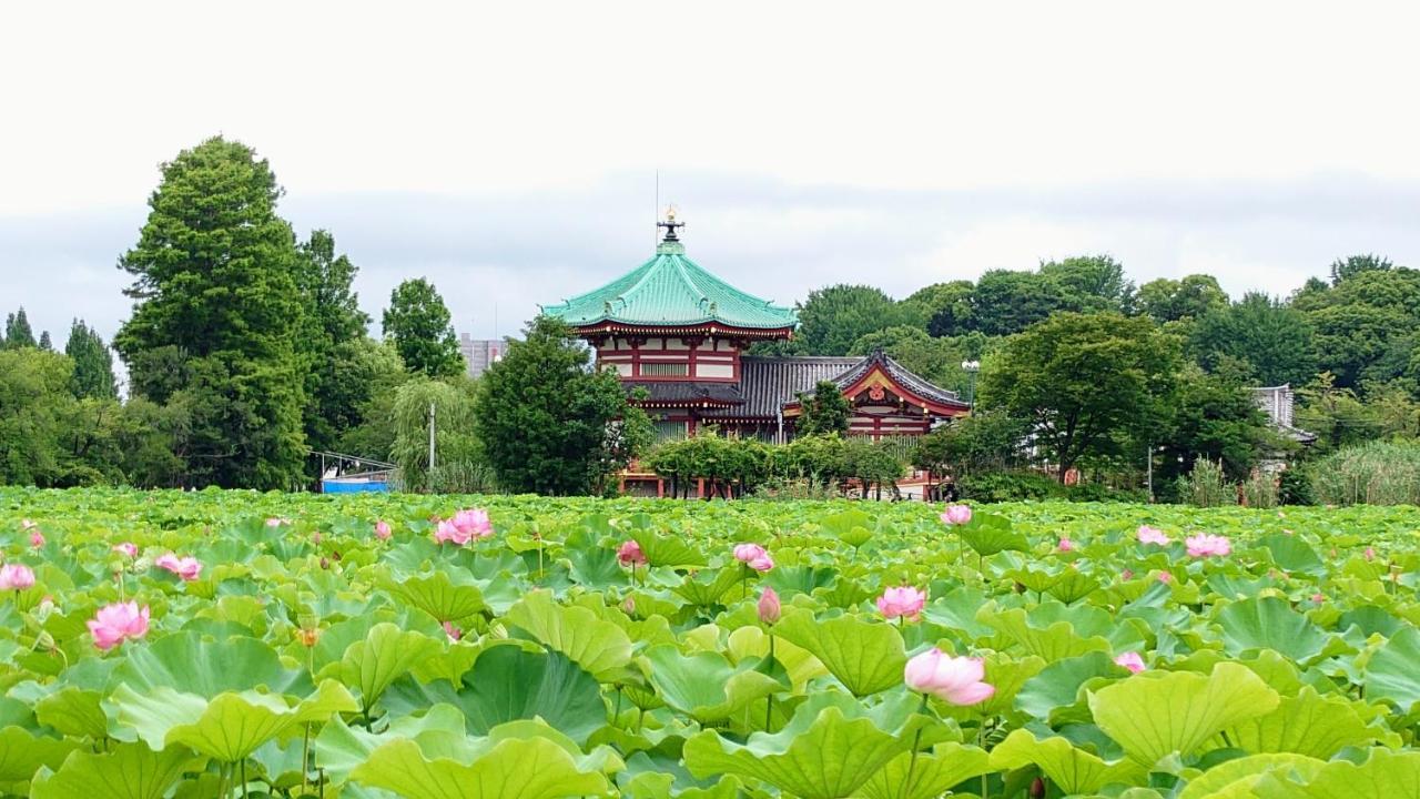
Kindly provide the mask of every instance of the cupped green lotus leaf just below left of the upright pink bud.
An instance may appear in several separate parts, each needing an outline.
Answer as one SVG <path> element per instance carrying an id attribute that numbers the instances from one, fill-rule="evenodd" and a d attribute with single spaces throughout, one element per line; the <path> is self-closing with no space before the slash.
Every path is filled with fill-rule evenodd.
<path id="1" fill-rule="evenodd" d="M 772 677 L 754 671 L 753 661 L 734 667 L 720 653 L 682 655 L 676 647 L 662 644 L 646 650 L 645 657 L 656 694 L 700 722 L 723 721 L 781 688 Z"/>

